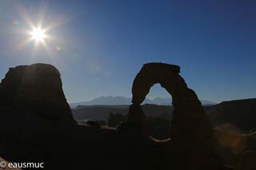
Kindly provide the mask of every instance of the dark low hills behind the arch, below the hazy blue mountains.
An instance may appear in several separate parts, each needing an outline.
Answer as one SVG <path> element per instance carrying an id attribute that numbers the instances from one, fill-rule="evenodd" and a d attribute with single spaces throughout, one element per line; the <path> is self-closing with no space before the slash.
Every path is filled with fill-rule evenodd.
<path id="1" fill-rule="evenodd" d="M 170 120 L 174 107 L 172 105 L 142 105 L 147 117 L 162 117 Z M 218 125 L 234 125 L 249 132 L 256 129 L 256 98 L 237 101 L 223 101 L 217 105 L 203 106 L 214 127 Z M 78 105 L 72 109 L 74 118 L 82 120 L 108 121 L 110 113 L 127 115 L 129 105 Z"/>

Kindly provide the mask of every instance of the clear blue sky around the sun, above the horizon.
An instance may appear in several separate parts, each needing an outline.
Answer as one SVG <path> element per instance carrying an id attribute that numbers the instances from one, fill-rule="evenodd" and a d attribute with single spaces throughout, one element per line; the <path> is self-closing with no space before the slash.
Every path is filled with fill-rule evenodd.
<path id="1" fill-rule="evenodd" d="M 181 66 L 198 97 L 256 97 L 256 1 L 0 1 L 0 77 L 37 62 L 62 73 L 70 102 L 130 97 L 146 62 Z M 42 18 L 42 14 L 45 17 Z M 47 34 L 47 49 L 25 44 L 28 18 Z M 149 97 L 169 97 L 159 85 Z"/>

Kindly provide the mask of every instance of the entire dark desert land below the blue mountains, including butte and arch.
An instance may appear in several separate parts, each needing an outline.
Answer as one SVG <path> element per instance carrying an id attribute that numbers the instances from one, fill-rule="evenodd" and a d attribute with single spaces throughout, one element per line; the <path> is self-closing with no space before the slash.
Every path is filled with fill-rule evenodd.
<path id="1" fill-rule="evenodd" d="M 1 156 L 12 162 L 44 162 L 49 169 L 59 168 L 63 161 L 71 162 L 62 164 L 65 169 L 118 169 L 127 160 L 124 169 L 253 168 L 256 99 L 202 106 L 178 69 L 146 64 L 134 79 L 132 105 L 79 105 L 71 112 L 54 66 L 10 68 L 0 84 Z M 150 73 L 154 76 L 148 77 Z M 169 86 L 170 80 L 174 86 Z M 182 94 L 191 96 L 173 96 L 171 106 L 140 106 L 158 82 L 168 93 L 182 87 Z M 191 159 L 196 160 L 189 164 Z M 110 161 L 114 164 L 107 164 Z"/>

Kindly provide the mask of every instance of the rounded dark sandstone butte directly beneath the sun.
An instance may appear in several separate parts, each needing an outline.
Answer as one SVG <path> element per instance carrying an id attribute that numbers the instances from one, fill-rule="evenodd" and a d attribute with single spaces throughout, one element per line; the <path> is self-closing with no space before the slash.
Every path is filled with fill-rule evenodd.
<path id="1" fill-rule="evenodd" d="M 0 84 L 0 105 L 37 113 L 46 120 L 72 122 L 60 76 L 58 69 L 46 64 L 10 68 Z"/>

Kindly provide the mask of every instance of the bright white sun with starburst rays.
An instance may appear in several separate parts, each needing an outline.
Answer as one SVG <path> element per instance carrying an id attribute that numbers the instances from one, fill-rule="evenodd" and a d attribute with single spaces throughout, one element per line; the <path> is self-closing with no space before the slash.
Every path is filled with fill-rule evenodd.
<path id="1" fill-rule="evenodd" d="M 63 49 L 61 44 L 66 41 L 64 38 L 59 39 L 57 35 L 54 36 L 53 33 L 56 32 L 53 30 L 57 29 L 59 26 L 63 26 L 66 22 L 69 22 L 70 17 L 60 17 L 58 20 L 54 21 L 51 21 L 51 19 L 47 17 L 50 19 L 47 23 L 47 4 L 42 3 L 42 6 L 38 9 L 38 18 L 34 18 L 38 19 L 36 22 L 30 18 L 30 15 L 22 4 L 19 4 L 17 9 L 18 14 L 22 17 L 21 22 L 24 22 L 24 24 L 21 24 L 17 19 L 13 20 L 14 26 L 19 26 L 19 28 L 17 28 L 19 32 L 23 34 L 22 42 L 18 43 L 17 48 L 23 49 L 26 45 L 33 42 L 31 44 L 34 45 L 30 45 L 30 47 L 33 47 L 32 55 L 35 55 L 38 52 L 46 52 L 46 55 L 50 58 L 56 57 L 57 53 Z M 45 49 L 45 51 L 43 52 L 41 49 Z"/>

